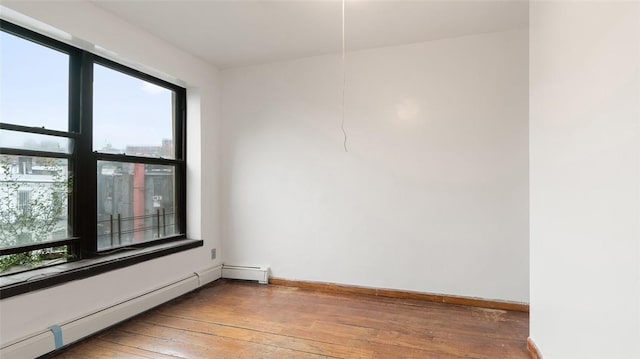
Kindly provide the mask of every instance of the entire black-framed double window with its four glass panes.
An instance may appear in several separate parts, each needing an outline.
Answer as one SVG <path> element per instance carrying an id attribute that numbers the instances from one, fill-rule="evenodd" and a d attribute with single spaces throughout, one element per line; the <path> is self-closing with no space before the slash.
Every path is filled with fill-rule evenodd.
<path id="1" fill-rule="evenodd" d="M 0 25 L 0 275 L 183 239 L 185 89 Z"/>

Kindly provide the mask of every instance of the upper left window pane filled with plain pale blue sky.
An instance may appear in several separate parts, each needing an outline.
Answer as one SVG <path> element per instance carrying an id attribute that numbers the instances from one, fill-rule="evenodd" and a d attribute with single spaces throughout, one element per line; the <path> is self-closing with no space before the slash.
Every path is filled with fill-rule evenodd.
<path id="1" fill-rule="evenodd" d="M 68 131 L 68 54 L 0 32 L 0 78 L 0 122 Z"/>

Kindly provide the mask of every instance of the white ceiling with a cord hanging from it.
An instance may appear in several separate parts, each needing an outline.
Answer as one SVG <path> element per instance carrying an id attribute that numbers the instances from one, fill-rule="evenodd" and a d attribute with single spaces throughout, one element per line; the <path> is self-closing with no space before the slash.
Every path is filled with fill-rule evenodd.
<path id="1" fill-rule="evenodd" d="M 340 0 L 104 1 L 95 5 L 220 67 L 338 52 Z M 528 24 L 526 0 L 346 0 L 347 50 Z"/>

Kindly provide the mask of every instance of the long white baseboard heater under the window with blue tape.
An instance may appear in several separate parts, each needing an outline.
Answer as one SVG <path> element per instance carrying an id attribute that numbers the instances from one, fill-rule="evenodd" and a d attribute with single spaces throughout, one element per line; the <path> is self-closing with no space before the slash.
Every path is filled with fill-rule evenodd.
<path id="1" fill-rule="evenodd" d="M 222 266 L 208 268 L 110 307 L 64 323 L 53 324 L 48 330 L 3 345 L 0 348 L 0 357 L 39 357 L 195 290 L 221 276 Z"/>

